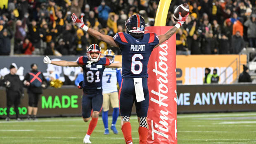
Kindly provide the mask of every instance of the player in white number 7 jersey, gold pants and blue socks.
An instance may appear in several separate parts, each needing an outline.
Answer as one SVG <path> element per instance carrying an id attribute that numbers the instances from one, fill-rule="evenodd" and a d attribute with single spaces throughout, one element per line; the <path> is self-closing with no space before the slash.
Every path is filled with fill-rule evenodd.
<path id="1" fill-rule="evenodd" d="M 104 52 L 104 57 L 107 57 L 111 63 L 115 63 L 115 53 L 112 50 L 106 50 Z M 108 112 L 109 105 L 111 104 L 113 108 L 112 114 L 112 124 L 111 130 L 113 130 L 114 134 L 118 134 L 116 130 L 116 120 L 119 116 L 119 97 L 117 93 L 116 83 L 119 83 L 121 86 L 122 77 L 121 77 L 121 69 L 120 68 L 105 68 L 102 77 L 102 89 L 103 89 L 103 111 L 102 111 L 102 120 L 105 128 L 104 135 L 109 134 L 109 126 L 108 126 Z"/>

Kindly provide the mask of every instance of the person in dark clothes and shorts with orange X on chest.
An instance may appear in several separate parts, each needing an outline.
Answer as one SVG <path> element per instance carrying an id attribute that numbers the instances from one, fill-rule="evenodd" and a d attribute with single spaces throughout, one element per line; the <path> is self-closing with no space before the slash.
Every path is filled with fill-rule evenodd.
<path id="1" fill-rule="evenodd" d="M 43 88 L 47 87 L 43 73 L 38 71 L 37 64 L 31 64 L 31 71 L 24 78 L 24 85 L 28 88 L 28 120 L 36 120 L 38 110 L 39 95 L 43 93 Z M 33 111 L 33 116 L 32 116 Z"/>

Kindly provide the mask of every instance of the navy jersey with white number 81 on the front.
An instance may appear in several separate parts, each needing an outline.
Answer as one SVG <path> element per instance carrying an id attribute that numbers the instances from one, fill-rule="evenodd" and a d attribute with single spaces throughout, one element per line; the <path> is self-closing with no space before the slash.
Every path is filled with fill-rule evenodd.
<path id="1" fill-rule="evenodd" d="M 99 61 L 87 64 L 88 57 L 82 56 L 77 63 L 83 68 L 83 89 L 102 90 L 102 75 L 106 66 L 111 64 L 108 58 L 100 58 Z"/>

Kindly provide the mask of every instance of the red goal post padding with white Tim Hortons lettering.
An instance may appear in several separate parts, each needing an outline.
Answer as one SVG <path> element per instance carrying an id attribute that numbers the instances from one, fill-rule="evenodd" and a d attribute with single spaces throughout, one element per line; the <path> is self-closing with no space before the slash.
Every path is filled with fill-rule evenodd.
<path id="1" fill-rule="evenodd" d="M 145 33 L 166 33 L 171 26 L 146 27 Z M 175 34 L 155 48 L 148 63 L 149 110 L 147 144 L 177 144 Z"/>

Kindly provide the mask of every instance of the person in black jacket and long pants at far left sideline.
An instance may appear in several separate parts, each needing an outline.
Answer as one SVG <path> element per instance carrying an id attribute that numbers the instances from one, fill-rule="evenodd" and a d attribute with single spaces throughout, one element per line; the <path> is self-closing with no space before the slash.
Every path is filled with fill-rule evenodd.
<path id="1" fill-rule="evenodd" d="M 16 65 L 15 65 L 16 66 Z M 19 79 L 19 76 L 16 75 L 17 68 L 12 64 L 9 69 L 10 73 L 5 75 L 4 83 L 6 87 L 6 96 L 7 96 L 7 118 L 5 120 L 9 121 L 9 112 L 11 106 L 14 104 L 14 111 L 16 113 L 16 119 L 21 120 L 19 118 L 18 106 L 20 104 L 20 98 L 24 96 L 23 84 Z"/>

